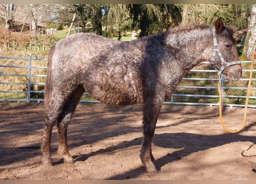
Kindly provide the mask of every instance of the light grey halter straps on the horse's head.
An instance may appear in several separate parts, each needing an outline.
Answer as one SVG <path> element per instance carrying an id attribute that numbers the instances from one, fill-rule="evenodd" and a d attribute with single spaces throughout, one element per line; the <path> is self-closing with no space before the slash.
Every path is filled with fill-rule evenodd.
<path id="1" fill-rule="evenodd" d="M 225 68 L 235 65 L 235 64 L 241 64 L 240 60 L 238 61 L 234 61 L 234 62 L 226 62 L 223 58 L 223 56 L 220 53 L 220 49 L 219 49 L 219 45 L 217 44 L 217 39 L 216 39 L 216 30 L 215 27 L 212 27 L 212 36 L 213 36 L 213 53 L 212 53 L 212 60 L 211 60 L 211 66 L 213 68 L 215 68 L 215 70 L 217 71 L 218 75 L 221 75 L 223 73 L 223 71 L 225 70 Z M 220 60 L 221 60 L 221 68 L 220 70 L 217 70 L 217 68 L 214 66 L 214 62 L 215 62 L 215 56 L 216 53 L 218 53 Z"/>

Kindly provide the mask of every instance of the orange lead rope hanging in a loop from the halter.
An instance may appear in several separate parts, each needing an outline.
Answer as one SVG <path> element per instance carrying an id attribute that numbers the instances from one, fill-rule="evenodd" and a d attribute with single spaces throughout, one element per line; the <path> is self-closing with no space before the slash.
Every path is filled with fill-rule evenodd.
<path id="1" fill-rule="evenodd" d="M 230 129 L 228 129 L 226 127 L 226 125 L 224 124 L 223 120 L 222 120 L 222 94 L 221 94 L 221 79 L 218 83 L 218 92 L 219 92 L 219 97 L 220 97 L 220 101 L 219 101 L 219 110 L 220 110 L 220 123 L 222 125 L 222 127 L 224 128 L 225 131 L 227 131 L 228 133 L 237 133 L 242 131 L 242 129 L 244 128 L 244 125 L 246 123 L 246 116 L 247 116 L 247 106 L 248 106 L 248 102 L 249 102 L 249 96 L 250 96 L 250 89 L 251 89 L 251 79 L 253 78 L 253 64 L 254 64 L 254 57 L 256 55 L 256 51 L 253 53 L 253 57 L 251 59 L 251 71 L 250 71 L 250 78 L 249 78 L 249 84 L 248 84 L 248 90 L 247 90 L 247 97 L 246 97 L 246 102 L 245 102 L 245 107 L 244 107 L 244 118 L 243 118 L 243 124 L 242 126 L 237 129 L 236 131 L 232 131 Z"/>

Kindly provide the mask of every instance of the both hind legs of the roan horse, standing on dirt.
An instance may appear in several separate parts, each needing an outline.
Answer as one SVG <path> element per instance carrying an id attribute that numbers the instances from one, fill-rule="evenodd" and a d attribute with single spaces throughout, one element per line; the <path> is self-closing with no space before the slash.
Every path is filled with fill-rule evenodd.
<path id="1" fill-rule="evenodd" d="M 45 165 L 51 166 L 51 135 L 52 127 L 55 122 L 58 122 L 59 129 L 59 154 L 69 155 L 67 149 L 67 125 L 71 120 L 72 114 L 74 113 L 75 107 L 78 104 L 79 99 L 82 96 L 83 89 L 74 90 L 71 94 L 64 94 L 58 92 L 59 89 L 52 91 L 52 98 L 45 105 L 45 122 L 44 122 L 44 135 L 43 143 L 41 145 L 41 151 L 43 153 L 42 162 Z M 72 90 L 71 90 L 72 91 Z M 70 102 L 70 106 L 68 106 Z M 71 158 L 71 156 L 65 156 Z M 68 159 L 66 159 L 68 160 Z"/>

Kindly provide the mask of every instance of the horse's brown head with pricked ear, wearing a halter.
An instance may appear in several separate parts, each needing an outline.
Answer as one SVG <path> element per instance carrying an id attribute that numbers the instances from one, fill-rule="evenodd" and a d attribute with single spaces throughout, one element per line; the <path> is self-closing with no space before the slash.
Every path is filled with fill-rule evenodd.
<path id="1" fill-rule="evenodd" d="M 230 81 L 238 81 L 242 76 L 242 66 L 232 29 L 225 26 L 221 18 L 218 18 L 212 28 L 212 34 L 214 43 L 212 66 L 219 75 L 223 73 Z"/>

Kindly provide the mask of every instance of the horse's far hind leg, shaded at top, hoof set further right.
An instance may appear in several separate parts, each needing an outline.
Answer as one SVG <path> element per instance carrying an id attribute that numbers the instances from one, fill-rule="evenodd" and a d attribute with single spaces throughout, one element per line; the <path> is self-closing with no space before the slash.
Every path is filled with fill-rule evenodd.
<path id="1" fill-rule="evenodd" d="M 70 123 L 70 120 L 74 114 L 75 108 L 77 107 L 77 104 L 82 97 L 84 93 L 84 89 L 82 86 L 78 86 L 78 88 L 73 91 L 70 98 L 66 102 L 66 104 L 63 107 L 62 113 L 59 116 L 58 119 L 58 141 L 59 141 L 59 147 L 58 147 L 58 154 L 63 156 L 64 162 L 73 163 L 74 160 L 70 156 L 70 153 L 68 152 L 67 147 L 67 127 Z"/>

